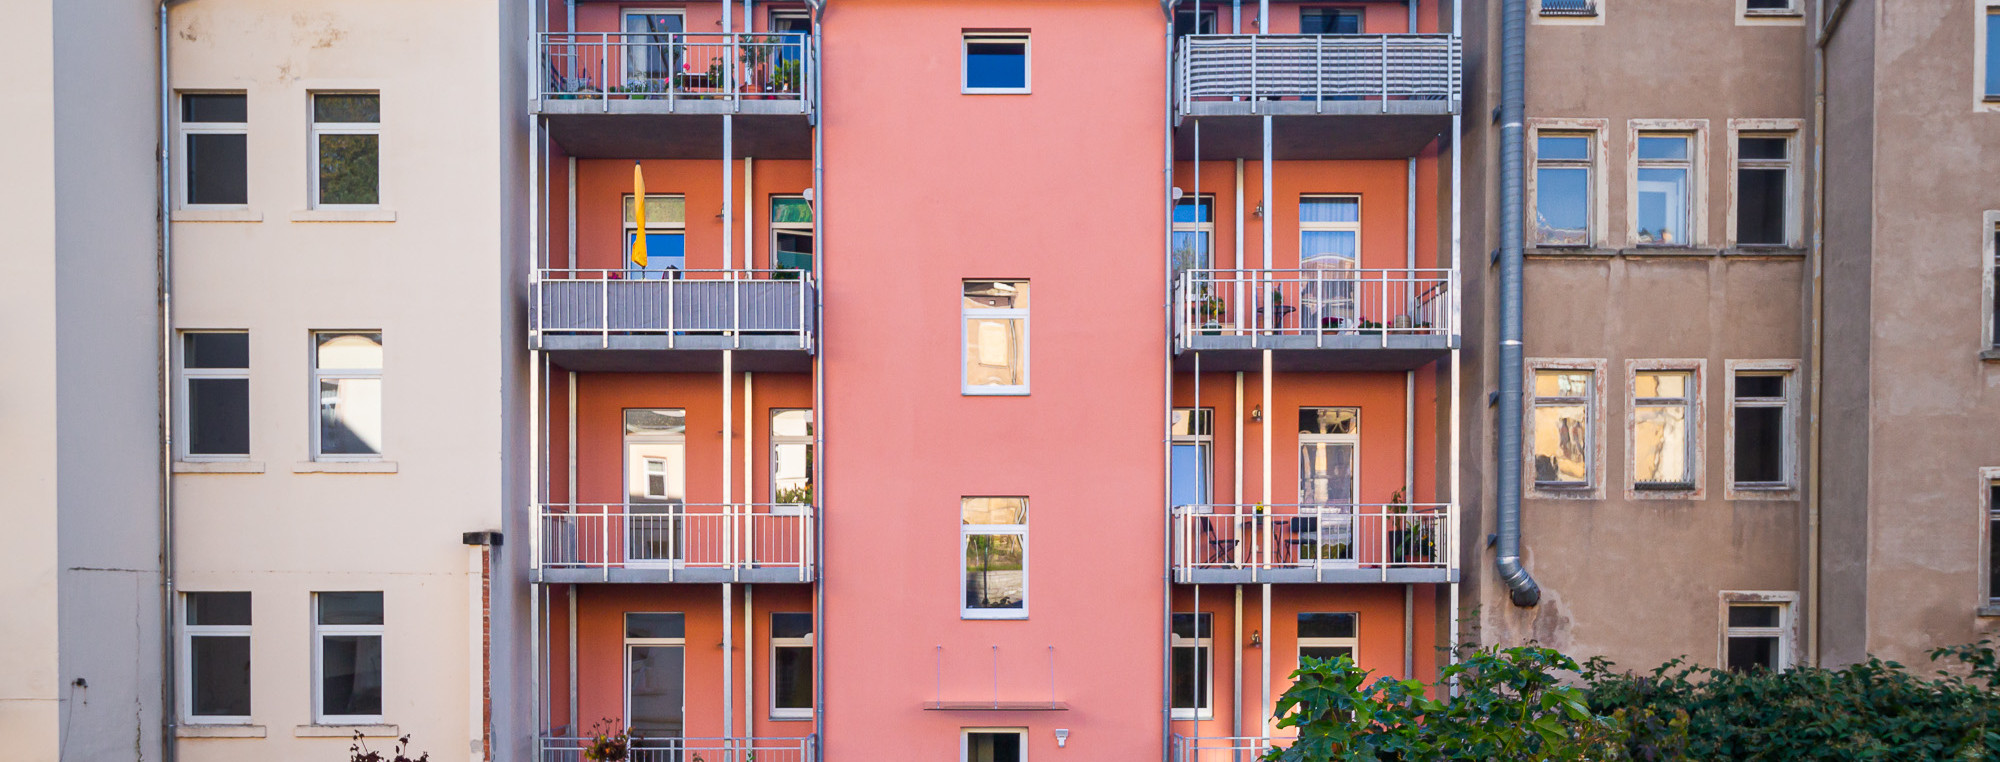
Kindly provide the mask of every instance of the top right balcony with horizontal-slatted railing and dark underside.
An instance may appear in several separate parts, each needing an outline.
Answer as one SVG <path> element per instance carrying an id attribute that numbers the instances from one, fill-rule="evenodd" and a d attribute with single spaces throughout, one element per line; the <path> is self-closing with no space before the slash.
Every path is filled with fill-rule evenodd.
<path id="1" fill-rule="evenodd" d="M 1174 114 L 1202 118 L 1202 158 L 1262 156 L 1262 116 L 1280 160 L 1414 156 L 1458 114 L 1460 58 L 1456 34 L 1190 34 Z"/>

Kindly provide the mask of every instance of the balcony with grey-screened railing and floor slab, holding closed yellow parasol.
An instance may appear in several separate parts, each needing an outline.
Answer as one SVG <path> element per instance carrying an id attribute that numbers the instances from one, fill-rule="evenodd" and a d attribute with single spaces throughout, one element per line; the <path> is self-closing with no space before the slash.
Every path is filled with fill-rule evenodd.
<path id="1" fill-rule="evenodd" d="M 818 290 L 804 270 L 538 270 L 530 346 L 568 370 L 812 366 Z"/>

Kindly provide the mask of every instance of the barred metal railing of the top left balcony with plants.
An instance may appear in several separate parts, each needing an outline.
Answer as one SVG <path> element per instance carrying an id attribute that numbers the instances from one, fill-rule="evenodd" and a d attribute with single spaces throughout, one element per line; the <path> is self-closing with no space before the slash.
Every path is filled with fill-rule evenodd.
<path id="1" fill-rule="evenodd" d="M 818 42 L 802 32 L 542 32 L 542 98 L 812 104 Z"/>

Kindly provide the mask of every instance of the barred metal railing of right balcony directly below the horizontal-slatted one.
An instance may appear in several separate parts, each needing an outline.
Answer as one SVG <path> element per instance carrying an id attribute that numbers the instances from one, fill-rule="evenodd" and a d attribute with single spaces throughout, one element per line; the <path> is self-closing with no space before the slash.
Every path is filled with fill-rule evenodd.
<path id="1" fill-rule="evenodd" d="M 1452 270 L 1182 270 L 1174 338 L 1456 336 Z"/>

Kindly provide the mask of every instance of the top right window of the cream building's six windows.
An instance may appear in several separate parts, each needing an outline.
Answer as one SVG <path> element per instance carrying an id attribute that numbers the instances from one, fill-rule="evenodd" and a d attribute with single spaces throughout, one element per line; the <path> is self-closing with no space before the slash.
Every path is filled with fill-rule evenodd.
<path id="1" fill-rule="evenodd" d="M 382 96 L 318 92 L 312 96 L 312 206 L 382 202 Z"/>

